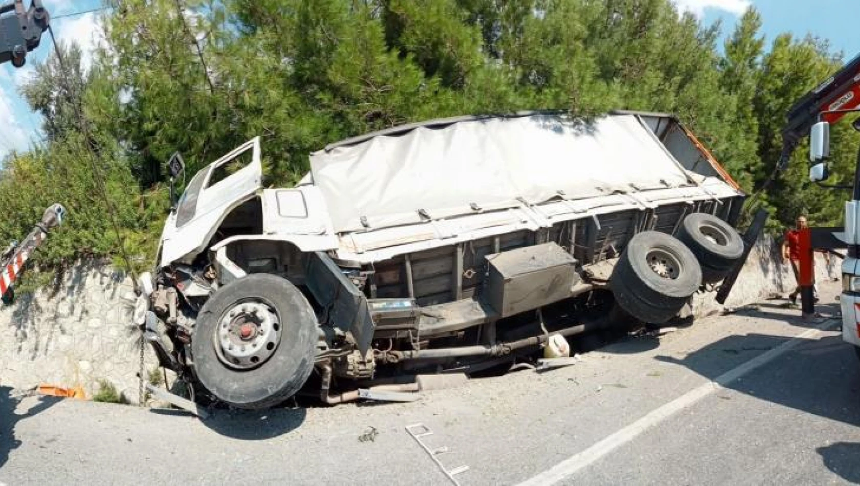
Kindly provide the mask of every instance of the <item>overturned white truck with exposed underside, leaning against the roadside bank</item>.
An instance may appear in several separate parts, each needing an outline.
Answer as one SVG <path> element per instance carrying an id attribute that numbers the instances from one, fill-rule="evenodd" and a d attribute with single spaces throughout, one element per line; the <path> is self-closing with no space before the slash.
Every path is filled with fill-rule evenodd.
<path id="1" fill-rule="evenodd" d="M 294 188 L 262 188 L 260 150 L 194 175 L 138 301 L 162 365 L 239 408 L 504 366 L 618 311 L 665 323 L 746 255 L 745 194 L 665 114 L 398 126 Z"/>

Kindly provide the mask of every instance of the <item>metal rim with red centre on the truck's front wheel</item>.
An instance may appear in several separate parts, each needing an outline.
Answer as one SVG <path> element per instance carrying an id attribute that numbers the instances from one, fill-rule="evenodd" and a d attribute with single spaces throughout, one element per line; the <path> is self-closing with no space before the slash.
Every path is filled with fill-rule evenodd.
<path id="1" fill-rule="evenodd" d="M 266 302 L 250 299 L 224 312 L 212 335 L 212 345 L 224 365 L 250 369 L 272 357 L 280 335 L 278 313 Z"/>

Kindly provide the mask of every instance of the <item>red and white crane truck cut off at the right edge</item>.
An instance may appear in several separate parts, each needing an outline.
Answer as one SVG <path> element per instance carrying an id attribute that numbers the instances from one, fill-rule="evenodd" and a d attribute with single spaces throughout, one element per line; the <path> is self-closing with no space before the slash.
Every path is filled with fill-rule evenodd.
<path id="1" fill-rule="evenodd" d="M 860 112 L 860 56 L 803 95 L 787 115 L 783 128 L 783 151 L 778 169 L 784 169 L 802 138 L 809 136 L 809 179 L 824 188 L 851 190 L 845 202 L 845 226 L 810 229 L 810 248 L 834 253 L 846 249 L 842 264 L 842 337 L 860 357 L 860 152 L 851 185 L 824 184 L 830 170 L 830 125 L 847 114 Z M 860 132 L 860 118 L 851 122 Z M 839 255 L 842 257 L 842 255 Z M 811 292 L 802 295 L 804 310 L 812 308 Z"/>

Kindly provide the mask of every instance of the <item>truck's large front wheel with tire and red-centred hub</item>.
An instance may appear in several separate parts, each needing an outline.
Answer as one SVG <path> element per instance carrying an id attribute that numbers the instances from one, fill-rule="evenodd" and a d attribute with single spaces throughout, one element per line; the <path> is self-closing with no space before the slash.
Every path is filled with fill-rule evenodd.
<path id="1" fill-rule="evenodd" d="M 316 355 L 316 316 L 289 281 L 251 274 L 221 287 L 191 342 L 194 374 L 224 403 L 265 409 L 292 397 Z"/>

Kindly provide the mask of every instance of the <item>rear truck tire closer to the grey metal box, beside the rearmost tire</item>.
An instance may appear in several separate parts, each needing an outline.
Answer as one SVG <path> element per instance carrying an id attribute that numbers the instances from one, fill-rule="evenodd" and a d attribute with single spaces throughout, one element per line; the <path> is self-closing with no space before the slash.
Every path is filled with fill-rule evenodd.
<path id="1" fill-rule="evenodd" d="M 630 238 L 609 286 L 631 316 L 665 323 L 678 314 L 701 281 L 702 269 L 684 243 L 659 231 L 642 231 Z"/>

